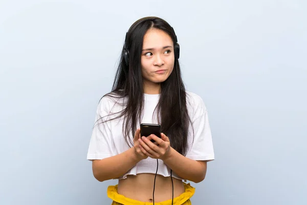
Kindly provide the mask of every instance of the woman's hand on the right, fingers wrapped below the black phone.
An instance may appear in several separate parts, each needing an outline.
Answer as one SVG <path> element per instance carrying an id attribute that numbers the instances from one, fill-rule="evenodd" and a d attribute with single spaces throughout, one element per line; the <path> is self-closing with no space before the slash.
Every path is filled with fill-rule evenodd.
<path id="1" fill-rule="evenodd" d="M 156 142 L 153 143 L 150 139 L 153 139 Z M 142 138 L 139 138 L 139 142 L 139 148 L 146 156 L 164 160 L 170 155 L 170 142 L 168 137 L 163 133 L 161 133 L 161 138 L 154 134 L 151 134 L 148 137 L 142 136 Z"/>

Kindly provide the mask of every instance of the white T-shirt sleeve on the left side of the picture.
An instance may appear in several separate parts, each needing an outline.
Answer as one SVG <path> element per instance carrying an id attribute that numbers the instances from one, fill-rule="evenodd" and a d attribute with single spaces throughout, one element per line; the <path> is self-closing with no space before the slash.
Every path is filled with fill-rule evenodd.
<path id="1" fill-rule="evenodd" d="M 96 110 L 95 124 L 87 151 L 88 160 L 103 159 L 114 155 L 111 121 L 105 122 L 109 118 L 109 107 L 108 97 L 103 97 Z"/>

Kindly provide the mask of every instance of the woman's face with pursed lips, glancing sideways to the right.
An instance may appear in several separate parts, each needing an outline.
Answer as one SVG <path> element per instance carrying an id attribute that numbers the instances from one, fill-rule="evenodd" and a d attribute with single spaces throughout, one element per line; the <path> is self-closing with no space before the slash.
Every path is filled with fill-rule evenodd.
<path id="1" fill-rule="evenodd" d="M 171 37 L 160 29 L 149 29 L 143 39 L 141 55 L 143 81 L 162 83 L 174 67 L 174 49 Z"/>

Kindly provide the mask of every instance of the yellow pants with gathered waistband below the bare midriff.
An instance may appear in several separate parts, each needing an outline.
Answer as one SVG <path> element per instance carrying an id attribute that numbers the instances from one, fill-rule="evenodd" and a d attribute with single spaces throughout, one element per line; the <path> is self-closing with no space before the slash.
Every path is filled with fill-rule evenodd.
<path id="1" fill-rule="evenodd" d="M 190 205 L 190 198 L 195 193 L 195 188 L 190 186 L 190 183 L 183 183 L 185 192 L 173 199 L 173 205 Z M 152 202 L 142 202 L 127 198 L 117 192 L 118 185 L 109 186 L 107 188 L 107 196 L 113 200 L 112 205 L 151 205 Z M 171 199 L 162 202 L 155 202 L 155 205 L 169 205 Z"/>

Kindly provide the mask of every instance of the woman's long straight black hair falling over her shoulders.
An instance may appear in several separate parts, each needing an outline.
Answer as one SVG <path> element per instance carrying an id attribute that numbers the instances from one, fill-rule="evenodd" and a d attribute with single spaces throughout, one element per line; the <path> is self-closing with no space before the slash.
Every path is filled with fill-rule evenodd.
<path id="1" fill-rule="evenodd" d="M 125 46 L 123 46 L 112 91 L 104 95 L 125 99 L 123 110 L 118 112 L 117 114 L 119 115 L 113 119 L 123 117 L 123 135 L 125 141 L 128 144 L 130 142 L 132 145 L 133 141 L 130 133 L 131 131 L 134 133 L 140 124 L 144 106 L 143 77 L 141 73 L 143 38 L 151 28 L 166 32 L 172 38 L 175 48 L 176 34 L 165 20 L 151 16 L 137 20 L 126 34 L 125 46 L 129 51 L 128 65 L 123 57 L 125 52 Z M 174 68 L 171 74 L 161 83 L 161 93 L 155 113 L 161 125 L 161 132 L 168 136 L 171 147 L 185 155 L 187 152 L 190 118 L 179 61 L 176 57 L 174 60 Z"/>

